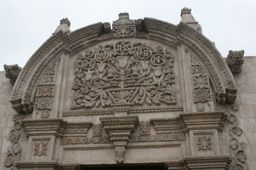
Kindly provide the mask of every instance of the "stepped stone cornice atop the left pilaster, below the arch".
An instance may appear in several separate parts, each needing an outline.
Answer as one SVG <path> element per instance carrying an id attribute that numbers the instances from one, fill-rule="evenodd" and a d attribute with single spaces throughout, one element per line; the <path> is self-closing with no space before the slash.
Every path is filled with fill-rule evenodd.
<path id="1" fill-rule="evenodd" d="M 24 119 L 21 121 L 27 136 L 45 136 L 45 135 L 72 135 L 72 134 L 84 134 L 88 131 L 88 128 L 92 126 L 92 122 L 74 122 L 69 123 L 63 121 L 61 118 L 52 119 Z M 81 131 L 74 131 L 81 129 Z"/>

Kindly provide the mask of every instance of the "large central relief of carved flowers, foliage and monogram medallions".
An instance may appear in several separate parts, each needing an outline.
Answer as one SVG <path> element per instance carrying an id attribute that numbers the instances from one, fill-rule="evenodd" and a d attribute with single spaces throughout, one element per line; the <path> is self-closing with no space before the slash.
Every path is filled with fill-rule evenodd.
<path id="1" fill-rule="evenodd" d="M 74 68 L 72 109 L 176 103 L 173 55 L 161 46 L 99 46 L 79 55 Z"/>

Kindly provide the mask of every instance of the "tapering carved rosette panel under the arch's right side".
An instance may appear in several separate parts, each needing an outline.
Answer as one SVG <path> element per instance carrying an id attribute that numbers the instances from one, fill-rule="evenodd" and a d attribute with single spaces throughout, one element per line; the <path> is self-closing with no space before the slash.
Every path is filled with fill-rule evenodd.
<path id="1" fill-rule="evenodd" d="M 204 104 L 211 101 L 211 89 L 209 80 L 205 74 L 202 64 L 198 62 L 195 56 L 190 55 L 190 66 L 193 80 L 193 101 L 196 103 L 197 111 L 204 111 Z"/>

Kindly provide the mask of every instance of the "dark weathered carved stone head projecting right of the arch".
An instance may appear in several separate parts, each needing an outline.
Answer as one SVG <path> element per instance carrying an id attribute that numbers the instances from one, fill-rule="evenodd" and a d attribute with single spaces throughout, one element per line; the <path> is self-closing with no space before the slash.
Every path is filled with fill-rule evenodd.
<path id="1" fill-rule="evenodd" d="M 244 64 L 244 50 L 228 52 L 227 64 L 232 73 L 241 73 Z"/>

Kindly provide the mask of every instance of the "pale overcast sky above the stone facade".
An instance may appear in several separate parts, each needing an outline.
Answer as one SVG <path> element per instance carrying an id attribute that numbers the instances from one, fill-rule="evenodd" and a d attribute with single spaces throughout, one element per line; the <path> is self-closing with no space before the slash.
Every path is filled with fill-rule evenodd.
<path id="1" fill-rule="evenodd" d="M 203 34 L 215 42 L 223 57 L 228 50 L 245 50 L 245 56 L 256 56 L 255 0 L 0 0 L 0 71 L 4 64 L 24 67 L 61 18 L 70 20 L 71 31 L 96 22 L 112 23 L 121 12 L 128 12 L 131 19 L 151 17 L 177 25 L 184 6 L 192 9 Z"/>

